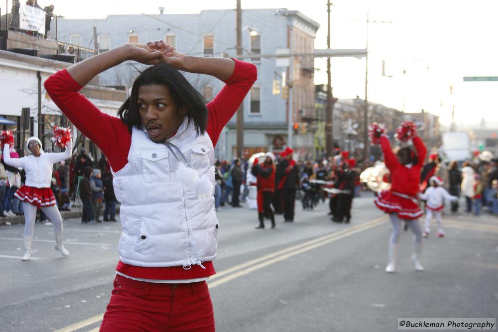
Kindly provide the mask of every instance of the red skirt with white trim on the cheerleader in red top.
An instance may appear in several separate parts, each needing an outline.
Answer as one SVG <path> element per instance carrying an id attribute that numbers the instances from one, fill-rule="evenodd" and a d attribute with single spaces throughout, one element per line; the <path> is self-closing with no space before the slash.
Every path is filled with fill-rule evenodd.
<path id="1" fill-rule="evenodd" d="M 377 193 L 375 205 L 385 213 L 396 213 L 400 219 L 413 220 L 423 215 L 420 206 L 413 200 L 394 195 L 390 190 Z"/>

